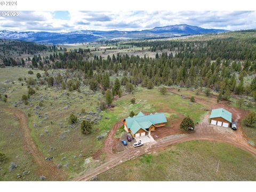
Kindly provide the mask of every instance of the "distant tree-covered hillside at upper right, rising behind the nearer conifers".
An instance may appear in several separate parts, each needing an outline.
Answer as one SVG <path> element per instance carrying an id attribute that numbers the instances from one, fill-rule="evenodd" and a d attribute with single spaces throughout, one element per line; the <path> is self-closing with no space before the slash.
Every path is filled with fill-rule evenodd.
<path id="1" fill-rule="evenodd" d="M 207 39 L 209 38 L 210 39 Z M 139 41 L 124 43 L 150 47 L 150 51 L 170 50 L 179 58 L 209 58 L 216 60 L 256 60 L 256 30 L 244 30 L 219 35 L 183 39 L 182 41 Z"/>

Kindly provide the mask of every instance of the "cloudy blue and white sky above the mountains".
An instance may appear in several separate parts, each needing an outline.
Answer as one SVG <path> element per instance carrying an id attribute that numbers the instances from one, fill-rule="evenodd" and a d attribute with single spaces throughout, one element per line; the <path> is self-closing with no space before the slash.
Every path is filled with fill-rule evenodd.
<path id="1" fill-rule="evenodd" d="M 0 17 L 0 30 L 143 30 L 188 24 L 215 29 L 254 29 L 256 11 L 20 11 Z"/>

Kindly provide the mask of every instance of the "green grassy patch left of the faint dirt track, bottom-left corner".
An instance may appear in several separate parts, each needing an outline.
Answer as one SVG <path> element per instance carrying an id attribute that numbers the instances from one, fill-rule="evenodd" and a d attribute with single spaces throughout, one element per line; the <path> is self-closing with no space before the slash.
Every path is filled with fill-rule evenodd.
<path id="1" fill-rule="evenodd" d="M 0 121 L 0 152 L 7 157 L 3 164 L 0 163 L 0 181 L 39 180 L 38 167 L 33 162 L 33 156 L 25 149 L 26 142 L 20 132 L 18 119 L 0 110 Z M 12 171 L 9 170 L 11 162 L 18 166 Z"/>

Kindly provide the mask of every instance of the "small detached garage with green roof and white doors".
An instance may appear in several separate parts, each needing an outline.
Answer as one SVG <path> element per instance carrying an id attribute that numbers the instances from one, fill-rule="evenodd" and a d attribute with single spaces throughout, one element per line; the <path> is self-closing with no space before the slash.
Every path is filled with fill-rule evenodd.
<path id="1" fill-rule="evenodd" d="M 210 119 L 212 125 L 230 127 L 232 123 L 232 114 L 223 108 L 213 109 Z"/>

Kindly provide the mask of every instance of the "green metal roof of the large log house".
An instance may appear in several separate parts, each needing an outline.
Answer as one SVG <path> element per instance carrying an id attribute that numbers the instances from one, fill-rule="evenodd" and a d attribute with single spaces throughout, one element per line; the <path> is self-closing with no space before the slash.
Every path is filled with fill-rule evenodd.
<path id="1" fill-rule="evenodd" d="M 125 119 L 127 127 L 132 131 L 133 134 L 137 133 L 140 129 L 147 132 L 151 125 L 158 123 L 166 123 L 166 117 L 163 113 L 155 113 L 150 115 L 144 115 L 140 112 L 137 116 L 128 117 Z"/>

